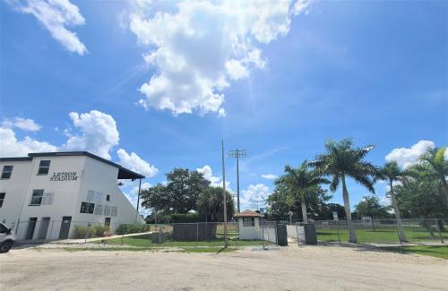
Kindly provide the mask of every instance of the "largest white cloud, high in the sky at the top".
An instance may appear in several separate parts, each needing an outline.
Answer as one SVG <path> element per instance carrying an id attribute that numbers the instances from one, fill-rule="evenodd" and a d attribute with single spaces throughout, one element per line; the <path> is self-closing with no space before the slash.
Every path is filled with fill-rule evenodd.
<path id="1" fill-rule="evenodd" d="M 186 1 L 168 2 L 167 11 L 153 13 L 151 6 L 134 5 L 129 28 L 149 51 L 147 64 L 157 73 L 142 84 L 148 109 L 167 109 L 176 116 L 217 112 L 230 81 L 245 79 L 266 60 L 257 45 L 288 34 L 293 15 L 303 13 L 307 2 Z"/>

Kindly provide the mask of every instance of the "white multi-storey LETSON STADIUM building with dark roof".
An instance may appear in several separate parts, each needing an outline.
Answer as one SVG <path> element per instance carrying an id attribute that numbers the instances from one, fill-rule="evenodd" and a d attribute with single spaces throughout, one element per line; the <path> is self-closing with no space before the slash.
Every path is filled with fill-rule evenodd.
<path id="1" fill-rule="evenodd" d="M 73 226 L 144 223 L 117 185 L 143 175 L 86 151 L 0 158 L 0 220 L 19 239 L 64 239 Z"/>

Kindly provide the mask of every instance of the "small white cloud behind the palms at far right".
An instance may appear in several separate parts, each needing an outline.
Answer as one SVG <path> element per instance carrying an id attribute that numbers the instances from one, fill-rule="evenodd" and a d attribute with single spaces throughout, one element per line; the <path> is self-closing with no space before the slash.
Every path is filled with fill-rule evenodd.
<path id="1" fill-rule="evenodd" d="M 400 167 L 407 168 L 418 163 L 418 158 L 427 150 L 434 149 L 434 141 L 418 141 L 410 148 L 393 149 L 385 157 L 386 161 L 396 161 Z"/>

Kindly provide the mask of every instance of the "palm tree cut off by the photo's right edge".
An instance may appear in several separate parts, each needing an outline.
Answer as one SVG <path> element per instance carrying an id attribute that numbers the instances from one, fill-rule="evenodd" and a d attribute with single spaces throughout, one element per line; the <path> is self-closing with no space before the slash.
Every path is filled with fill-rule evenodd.
<path id="1" fill-rule="evenodd" d="M 446 147 L 440 149 L 428 149 L 420 157 L 420 160 L 429 166 L 434 177 L 440 181 L 444 193 L 444 203 L 448 207 L 448 184 L 446 176 L 448 176 L 448 160 L 444 157 Z"/>

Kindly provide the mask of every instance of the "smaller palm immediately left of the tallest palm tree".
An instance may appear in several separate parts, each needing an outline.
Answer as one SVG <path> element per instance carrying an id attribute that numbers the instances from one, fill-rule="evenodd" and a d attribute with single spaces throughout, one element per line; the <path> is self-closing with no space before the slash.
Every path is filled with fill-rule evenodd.
<path id="1" fill-rule="evenodd" d="M 285 182 L 289 184 L 291 189 L 300 194 L 302 204 L 303 222 L 308 223 L 308 215 L 306 213 L 306 196 L 311 193 L 311 189 L 319 184 L 330 184 L 330 181 L 323 178 L 319 172 L 309 170 L 308 161 L 305 160 L 300 167 L 285 167 L 286 175 L 283 176 Z"/>

